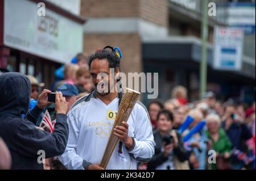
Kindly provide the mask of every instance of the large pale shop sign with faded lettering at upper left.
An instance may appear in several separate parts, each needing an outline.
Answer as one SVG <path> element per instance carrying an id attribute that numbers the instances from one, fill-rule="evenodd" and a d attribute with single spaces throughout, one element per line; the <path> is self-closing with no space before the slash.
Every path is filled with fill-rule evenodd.
<path id="1" fill-rule="evenodd" d="M 4 44 L 49 60 L 65 63 L 82 52 L 82 25 L 32 1 L 6 1 Z M 43 11 L 42 11 L 43 12 Z"/>

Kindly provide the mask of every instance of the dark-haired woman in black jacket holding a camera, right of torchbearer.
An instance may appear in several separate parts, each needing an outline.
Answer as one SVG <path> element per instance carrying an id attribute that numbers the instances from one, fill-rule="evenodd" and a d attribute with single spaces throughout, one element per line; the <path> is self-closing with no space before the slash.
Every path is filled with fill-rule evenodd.
<path id="1" fill-rule="evenodd" d="M 148 162 L 147 169 L 184 169 L 181 166 L 186 161 L 187 152 L 184 149 L 181 135 L 172 130 L 172 125 L 172 113 L 167 110 L 160 111 L 157 116 L 158 129 L 154 132 L 155 155 Z"/>

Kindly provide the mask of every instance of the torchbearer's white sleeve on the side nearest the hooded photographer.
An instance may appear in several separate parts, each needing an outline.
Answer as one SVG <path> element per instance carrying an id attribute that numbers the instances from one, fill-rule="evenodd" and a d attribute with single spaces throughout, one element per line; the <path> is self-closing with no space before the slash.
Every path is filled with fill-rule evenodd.
<path id="1" fill-rule="evenodd" d="M 63 163 L 63 165 L 67 167 L 67 169 L 82 170 L 82 162 L 84 159 L 82 159 L 76 153 L 77 140 L 80 132 L 80 123 L 79 119 L 76 119 L 72 112 L 68 113 L 68 128 L 68 144 L 65 152 L 59 157 L 59 159 Z"/>

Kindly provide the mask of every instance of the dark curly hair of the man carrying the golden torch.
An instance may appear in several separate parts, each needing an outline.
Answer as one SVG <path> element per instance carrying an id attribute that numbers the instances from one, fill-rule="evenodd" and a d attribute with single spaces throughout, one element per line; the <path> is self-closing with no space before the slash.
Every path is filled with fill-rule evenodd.
<path id="1" fill-rule="evenodd" d="M 92 61 L 95 59 L 103 60 L 106 59 L 109 62 L 109 68 L 119 68 L 120 69 L 120 60 L 117 54 L 115 52 L 108 50 L 108 49 L 102 49 L 97 50 L 95 53 L 91 54 L 89 56 L 89 68 L 92 64 Z"/>

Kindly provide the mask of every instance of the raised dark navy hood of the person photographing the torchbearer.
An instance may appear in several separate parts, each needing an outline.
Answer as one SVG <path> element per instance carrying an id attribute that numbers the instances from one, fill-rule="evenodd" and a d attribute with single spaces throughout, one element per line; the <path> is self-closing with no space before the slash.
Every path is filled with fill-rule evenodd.
<path id="1" fill-rule="evenodd" d="M 31 83 L 21 73 L 0 75 L 0 114 L 24 114 L 28 111 Z"/>

